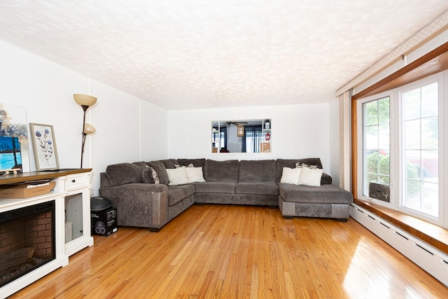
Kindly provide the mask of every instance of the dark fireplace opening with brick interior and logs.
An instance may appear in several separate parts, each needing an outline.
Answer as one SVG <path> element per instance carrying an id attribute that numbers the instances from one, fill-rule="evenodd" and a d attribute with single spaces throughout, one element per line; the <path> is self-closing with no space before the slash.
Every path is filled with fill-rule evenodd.
<path id="1" fill-rule="evenodd" d="M 0 287 L 56 258 L 55 201 L 0 213 Z"/>

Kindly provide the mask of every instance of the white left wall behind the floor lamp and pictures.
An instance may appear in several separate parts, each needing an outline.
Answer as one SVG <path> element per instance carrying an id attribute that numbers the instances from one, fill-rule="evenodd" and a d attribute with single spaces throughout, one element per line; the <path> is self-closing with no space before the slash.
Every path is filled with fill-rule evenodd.
<path id="1" fill-rule="evenodd" d="M 1 39 L 0 66 L 0 103 L 24 106 L 28 123 L 53 125 L 60 168 L 80 167 L 83 110 L 73 93 L 98 98 L 87 111 L 97 132 L 87 136 L 83 162 L 93 169 L 94 194 L 107 165 L 166 158 L 165 109 Z M 29 147 L 25 171 L 36 169 Z"/>

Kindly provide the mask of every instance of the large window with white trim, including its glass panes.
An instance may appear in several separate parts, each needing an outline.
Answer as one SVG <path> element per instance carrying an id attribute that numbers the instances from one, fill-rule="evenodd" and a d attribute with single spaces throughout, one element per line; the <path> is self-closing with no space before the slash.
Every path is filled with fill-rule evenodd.
<path id="1" fill-rule="evenodd" d="M 448 226 L 447 78 L 358 99 L 358 198 Z"/>

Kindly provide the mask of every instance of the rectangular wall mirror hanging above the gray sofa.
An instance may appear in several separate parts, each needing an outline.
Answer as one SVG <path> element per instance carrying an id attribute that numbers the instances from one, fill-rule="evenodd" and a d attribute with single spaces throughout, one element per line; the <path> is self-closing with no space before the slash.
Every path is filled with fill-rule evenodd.
<path id="1" fill-rule="evenodd" d="M 271 142 L 270 118 L 211 122 L 211 153 L 270 153 Z"/>

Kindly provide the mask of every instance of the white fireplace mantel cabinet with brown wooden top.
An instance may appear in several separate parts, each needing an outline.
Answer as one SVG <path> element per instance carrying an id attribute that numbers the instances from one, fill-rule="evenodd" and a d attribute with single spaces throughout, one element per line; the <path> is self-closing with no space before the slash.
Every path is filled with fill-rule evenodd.
<path id="1" fill-rule="evenodd" d="M 50 179 L 56 182 L 55 188 L 51 193 L 38 195 L 28 198 L 5 198 L 0 199 L 0 213 L 28 207 L 42 202 L 55 201 L 55 259 L 35 270 L 10 281 L 0 288 L 0 298 L 6 298 L 9 295 L 19 291 L 25 286 L 41 279 L 46 274 L 56 270 L 59 267 L 69 265 L 69 256 L 71 254 L 93 245 L 93 237 L 90 235 L 90 172 L 92 169 L 67 169 L 58 172 L 28 172 L 24 174 L 8 174 L 0 176 L 0 185 L 10 183 L 23 183 L 28 181 L 37 181 L 41 179 Z M 65 238 L 65 218 L 66 218 L 66 197 L 73 194 L 79 194 L 80 214 L 78 215 L 82 222 L 82 235 L 76 239 L 66 242 Z M 73 217 L 72 217 L 73 218 Z"/>

